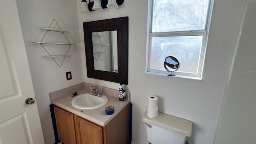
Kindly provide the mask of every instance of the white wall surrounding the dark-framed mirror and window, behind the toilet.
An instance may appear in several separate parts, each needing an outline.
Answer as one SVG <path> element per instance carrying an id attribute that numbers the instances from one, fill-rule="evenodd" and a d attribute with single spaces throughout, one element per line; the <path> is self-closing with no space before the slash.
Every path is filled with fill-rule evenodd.
<path id="1" fill-rule="evenodd" d="M 125 0 L 118 9 L 78 13 L 80 42 L 84 53 L 82 22 L 129 17 L 129 84 L 133 103 L 132 141 L 146 144 L 142 114 L 147 96 L 158 96 L 159 111 L 193 122 L 190 144 L 211 144 L 228 78 L 242 7 L 255 0 L 215 0 L 204 63 L 203 80 L 145 74 L 148 1 Z M 80 0 L 77 0 L 78 11 Z M 84 81 L 118 88 L 118 84 L 87 78 L 82 56 Z"/>

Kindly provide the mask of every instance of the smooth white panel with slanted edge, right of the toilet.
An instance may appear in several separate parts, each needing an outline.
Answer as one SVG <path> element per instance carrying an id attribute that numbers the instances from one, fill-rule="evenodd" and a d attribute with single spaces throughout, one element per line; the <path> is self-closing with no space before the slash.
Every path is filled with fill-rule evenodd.
<path id="1" fill-rule="evenodd" d="M 256 3 L 244 7 L 234 65 L 214 144 L 254 144 L 256 135 Z"/>

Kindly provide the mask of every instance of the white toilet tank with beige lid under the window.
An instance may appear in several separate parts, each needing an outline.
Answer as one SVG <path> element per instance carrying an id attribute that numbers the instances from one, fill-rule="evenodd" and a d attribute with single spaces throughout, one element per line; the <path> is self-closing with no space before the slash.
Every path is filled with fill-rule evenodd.
<path id="1" fill-rule="evenodd" d="M 150 118 L 146 111 L 142 120 L 150 144 L 185 144 L 186 137 L 192 135 L 192 122 L 182 118 L 161 112 L 158 112 L 156 118 Z"/>

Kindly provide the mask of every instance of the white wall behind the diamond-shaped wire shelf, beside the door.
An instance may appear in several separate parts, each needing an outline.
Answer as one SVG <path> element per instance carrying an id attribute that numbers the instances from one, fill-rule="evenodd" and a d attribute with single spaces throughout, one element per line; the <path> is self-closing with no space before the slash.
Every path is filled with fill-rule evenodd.
<path id="1" fill-rule="evenodd" d="M 75 0 L 17 0 L 17 7 L 25 41 L 32 82 L 38 105 L 45 144 L 53 144 L 54 133 L 50 116 L 49 93 L 83 82 L 80 46 L 71 48 L 75 57 L 67 58 L 67 68 L 59 68 L 47 53 L 32 42 L 40 42 L 52 20 L 62 18 L 73 38 L 79 42 L 78 16 Z M 56 37 L 52 41 L 58 40 Z M 15 40 L 13 40 L 15 42 Z M 59 52 L 62 52 L 59 47 Z M 57 53 L 57 52 L 56 52 Z M 72 80 L 66 80 L 66 72 L 72 72 Z"/>

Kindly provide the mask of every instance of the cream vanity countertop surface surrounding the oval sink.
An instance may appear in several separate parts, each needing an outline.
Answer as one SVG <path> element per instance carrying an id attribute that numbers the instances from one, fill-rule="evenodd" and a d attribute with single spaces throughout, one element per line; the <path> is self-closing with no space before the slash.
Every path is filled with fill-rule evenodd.
<path id="1" fill-rule="evenodd" d="M 77 91 L 77 94 L 84 94 L 88 93 L 88 90 L 79 90 Z M 129 104 L 130 100 L 126 101 L 120 101 L 118 97 L 110 96 L 107 94 L 104 94 L 105 96 L 108 97 L 108 102 L 95 109 L 90 109 L 90 110 L 83 110 L 79 108 L 75 108 L 72 106 L 71 101 L 74 97 L 71 96 L 71 94 L 68 94 L 66 96 L 63 96 L 61 98 L 58 98 L 54 100 L 52 103 L 60 108 L 63 108 L 69 112 L 72 112 L 82 118 L 85 118 L 87 120 L 90 120 L 91 122 L 94 122 L 100 126 L 105 126 L 116 114 L 118 114 L 127 104 Z M 107 106 L 114 106 L 114 114 L 112 115 L 107 115 L 105 112 L 105 108 Z"/>

